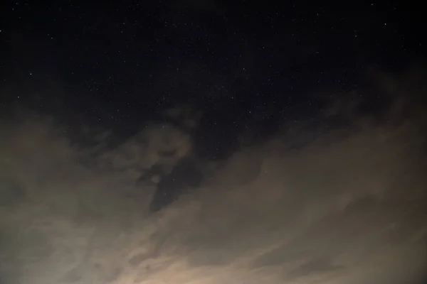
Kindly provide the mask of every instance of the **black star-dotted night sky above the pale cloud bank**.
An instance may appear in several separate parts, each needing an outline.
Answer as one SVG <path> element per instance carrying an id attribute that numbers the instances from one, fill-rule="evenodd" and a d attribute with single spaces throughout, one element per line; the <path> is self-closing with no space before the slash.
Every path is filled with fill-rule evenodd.
<path id="1" fill-rule="evenodd" d="M 425 49 L 420 13 L 392 3 L 7 1 L 2 11 L 9 102 L 130 133 L 190 103 L 220 151 L 245 127 L 312 115 L 313 92 L 354 89 L 371 65 L 396 72 Z"/>

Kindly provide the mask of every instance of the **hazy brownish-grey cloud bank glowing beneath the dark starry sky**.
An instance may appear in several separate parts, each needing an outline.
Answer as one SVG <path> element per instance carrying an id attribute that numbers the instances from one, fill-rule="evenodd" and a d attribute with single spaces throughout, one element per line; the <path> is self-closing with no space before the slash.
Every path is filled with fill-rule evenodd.
<path id="1" fill-rule="evenodd" d="M 161 165 L 159 175 L 168 174 L 193 155 L 186 131 L 150 124 L 116 148 L 94 151 L 70 141 L 48 116 L 1 121 L 1 281 L 381 284 L 421 278 L 423 114 L 407 111 L 418 102 L 401 95 L 408 80 L 375 74 L 380 87 L 349 97 L 389 94 L 392 104 L 380 118 L 364 110 L 362 98 L 315 120 L 345 116 L 346 128 L 318 126 L 322 131 L 313 136 L 310 120 L 285 124 L 226 161 L 201 162 L 201 184 L 156 213 L 149 211 L 155 188 L 137 181 L 154 165 Z"/>

